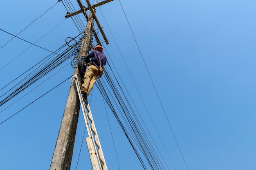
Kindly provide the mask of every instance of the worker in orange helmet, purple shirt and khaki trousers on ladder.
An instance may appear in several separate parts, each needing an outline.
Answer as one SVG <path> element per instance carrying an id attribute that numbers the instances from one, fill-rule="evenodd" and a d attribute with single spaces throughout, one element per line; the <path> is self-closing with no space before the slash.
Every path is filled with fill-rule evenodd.
<path id="1" fill-rule="evenodd" d="M 83 99 L 87 100 L 87 96 L 90 95 L 90 91 L 92 90 L 93 84 L 96 82 L 99 76 L 98 68 L 100 63 L 101 66 L 104 66 L 107 62 L 107 58 L 106 55 L 103 53 L 102 46 L 96 46 L 94 50 L 85 58 L 85 62 L 89 62 L 89 66 L 85 71 L 85 75 L 83 77 L 81 93 L 83 95 Z"/>

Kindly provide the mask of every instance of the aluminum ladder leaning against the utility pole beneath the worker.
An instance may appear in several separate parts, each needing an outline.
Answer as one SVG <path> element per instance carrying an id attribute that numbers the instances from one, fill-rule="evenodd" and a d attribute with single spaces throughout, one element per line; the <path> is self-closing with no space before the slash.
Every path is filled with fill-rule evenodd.
<path id="1" fill-rule="evenodd" d="M 92 169 L 108 170 L 104 156 L 103 156 L 103 152 L 101 150 L 101 144 L 99 143 L 99 137 L 97 135 L 96 127 L 94 125 L 90 106 L 87 101 L 83 101 L 83 96 L 81 93 L 81 89 L 79 86 L 79 79 L 77 75 L 74 75 L 73 78 L 75 79 L 76 89 L 78 92 L 80 104 L 83 110 L 83 117 L 85 120 L 87 132 L 88 132 L 88 137 L 86 137 L 86 143 L 87 143 L 88 152 L 89 152 L 91 163 L 92 163 Z"/>

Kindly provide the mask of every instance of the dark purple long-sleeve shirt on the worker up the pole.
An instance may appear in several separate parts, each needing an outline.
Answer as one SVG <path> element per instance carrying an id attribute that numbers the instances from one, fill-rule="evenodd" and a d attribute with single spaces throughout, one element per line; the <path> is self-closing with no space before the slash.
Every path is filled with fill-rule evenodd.
<path id="1" fill-rule="evenodd" d="M 102 51 L 92 51 L 89 55 L 87 55 L 86 59 L 92 58 L 90 61 L 91 64 L 97 66 L 99 68 L 99 58 L 101 60 L 101 66 L 105 66 L 107 63 L 107 57 Z"/>

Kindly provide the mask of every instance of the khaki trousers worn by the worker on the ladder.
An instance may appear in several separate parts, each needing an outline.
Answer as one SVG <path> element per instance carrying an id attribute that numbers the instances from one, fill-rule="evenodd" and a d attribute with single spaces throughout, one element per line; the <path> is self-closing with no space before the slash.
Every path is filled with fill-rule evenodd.
<path id="1" fill-rule="evenodd" d="M 89 66 L 85 71 L 81 91 L 86 92 L 87 95 L 90 95 L 90 91 L 92 90 L 93 84 L 96 82 L 98 78 L 97 71 L 98 68 L 94 65 Z"/>

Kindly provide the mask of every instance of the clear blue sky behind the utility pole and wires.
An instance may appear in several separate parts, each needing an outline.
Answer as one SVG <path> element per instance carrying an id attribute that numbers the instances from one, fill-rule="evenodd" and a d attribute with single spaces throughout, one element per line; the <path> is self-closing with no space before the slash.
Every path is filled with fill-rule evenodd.
<path id="1" fill-rule="evenodd" d="M 86 6 L 85 0 L 82 2 Z M 37 46 L 0 30 L 0 47 L 13 38 L 0 48 L 0 89 L 65 44 L 67 37 L 79 34 L 72 19 L 65 19 L 63 3 L 56 3 L 1 1 L 0 29 L 17 35 L 35 20 L 18 37 Z M 79 9 L 76 0 L 69 3 Z M 256 169 L 255 7 L 254 0 L 114 0 L 97 9 L 109 40 L 108 45 L 103 43 L 111 61 L 106 70 L 115 68 L 115 75 L 120 75 L 126 96 L 130 95 L 137 108 L 135 114 L 150 131 L 154 149 L 162 154 L 158 156 L 163 169 Z M 85 20 L 82 14 L 79 17 Z M 71 59 L 0 106 L 0 123 L 72 76 L 69 62 Z M 67 80 L 0 124 L 0 170 L 49 169 L 69 88 Z M 6 90 L 0 90 L 0 96 Z M 90 97 L 108 169 L 143 170 L 96 86 Z M 121 117 L 121 112 L 118 114 Z M 80 114 L 72 170 L 91 169 L 84 130 Z"/>

